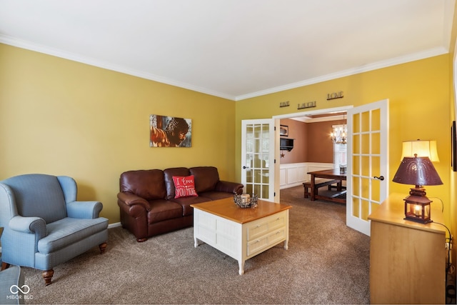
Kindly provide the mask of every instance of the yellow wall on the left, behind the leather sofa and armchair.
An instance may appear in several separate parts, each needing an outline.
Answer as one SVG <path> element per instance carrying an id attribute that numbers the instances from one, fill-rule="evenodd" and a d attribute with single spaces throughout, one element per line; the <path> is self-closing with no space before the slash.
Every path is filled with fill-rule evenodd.
<path id="1" fill-rule="evenodd" d="M 216 166 L 235 181 L 234 101 L 0 44 L 0 180 L 69 175 L 119 221 L 119 175 Z M 149 115 L 192 119 L 191 148 L 149 147 Z"/>

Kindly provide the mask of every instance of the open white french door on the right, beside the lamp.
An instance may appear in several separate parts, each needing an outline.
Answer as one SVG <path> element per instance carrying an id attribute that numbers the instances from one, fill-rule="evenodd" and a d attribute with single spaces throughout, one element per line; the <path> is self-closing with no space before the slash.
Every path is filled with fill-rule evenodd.
<path id="1" fill-rule="evenodd" d="M 388 196 L 388 99 L 348 109 L 346 224 L 370 235 L 368 215 Z"/>

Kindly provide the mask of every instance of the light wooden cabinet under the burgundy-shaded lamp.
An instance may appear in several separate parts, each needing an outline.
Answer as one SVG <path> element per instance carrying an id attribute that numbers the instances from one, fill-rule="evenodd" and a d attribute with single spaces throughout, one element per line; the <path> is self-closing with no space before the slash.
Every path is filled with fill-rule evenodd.
<path id="1" fill-rule="evenodd" d="M 371 220 L 371 304 L 444 304 L 446 229 L 441 203 L 431 224 L 403 220 L 405 194 L 391 194 Z"/>

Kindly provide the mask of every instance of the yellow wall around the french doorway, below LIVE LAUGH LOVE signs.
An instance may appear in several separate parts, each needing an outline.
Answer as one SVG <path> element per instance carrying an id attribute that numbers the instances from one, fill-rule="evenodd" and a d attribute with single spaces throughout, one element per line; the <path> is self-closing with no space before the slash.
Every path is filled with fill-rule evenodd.
<path id="1" fill-rule="evenodd" d="M 434 139 L 440 162 L 434 164 L 443 181 L 442 186 L 427 186 L 433 200 L 443 201 L 445 219 L 450 211 L 450 104 L 448 54 L 421 61 L 391 66 L 362 74 L 347 76 L 297 89 L 258 96 L 236 105 L 236 169 L 241 176 L 241 120 L 271 118 L 340 106 L 360 106 L 381 99 L 390 101 L 389 188 L 391 192 L 408 194 L 409 186 L 392 182 L 401 159 L 402 141 Z M 327 101 L 327 94 L 343 91 L 343 99 Z M 291 106 L 279 107 L 281 101 Z M 316 108 L 297 110 L 297 105 L 316 101 Z M 439 200 L 436 199 L 439 204 Z M 432 217 L 433 219 L 433 217 Z"/>

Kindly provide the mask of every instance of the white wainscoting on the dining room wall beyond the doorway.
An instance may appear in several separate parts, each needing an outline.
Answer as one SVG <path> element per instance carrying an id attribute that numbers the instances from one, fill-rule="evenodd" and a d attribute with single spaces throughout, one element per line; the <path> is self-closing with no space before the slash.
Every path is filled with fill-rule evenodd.
<path id="1" fill-rule="evenodd" d="M 323 171 L 324 169 L 333 169 L 333 163 L 303 162 L 280 164 L 280 189 L 301 185 L 311 178 L 308 174 L 309 171 Z"/>

